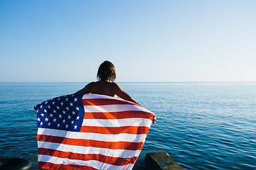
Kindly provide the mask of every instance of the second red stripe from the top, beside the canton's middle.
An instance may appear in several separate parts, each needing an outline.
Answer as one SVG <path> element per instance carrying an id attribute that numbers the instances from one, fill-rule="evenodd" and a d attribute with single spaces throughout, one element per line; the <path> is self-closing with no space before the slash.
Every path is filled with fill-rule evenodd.
<path id="1" fill-rule="evenodd" d="M 124 119 L 124 118 L 146 118 L 153 120 L 154 115 L 144 111 L 122 111 L 122 112 L 85 112 L 84 119 Z"/>

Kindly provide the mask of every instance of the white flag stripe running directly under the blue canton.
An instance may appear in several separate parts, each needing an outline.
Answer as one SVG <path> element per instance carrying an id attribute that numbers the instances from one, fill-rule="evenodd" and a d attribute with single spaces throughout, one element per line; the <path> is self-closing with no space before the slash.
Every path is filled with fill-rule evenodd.
<path id="1" fill-rule="evenodd" d="M 120 133 L 117 135 L 112 134 L 100 134 L 92 132 L 69 132 L 65 130 L 53 130 L 38 128 L 38 135 L 50 135 L 56 137 L 68 137 L 71 139 L 81 139 L 81 140 L 99 140 L 105 142 L 144 142 L 146 139 L 146 134 L 128 134 Z"/>

